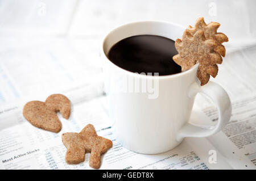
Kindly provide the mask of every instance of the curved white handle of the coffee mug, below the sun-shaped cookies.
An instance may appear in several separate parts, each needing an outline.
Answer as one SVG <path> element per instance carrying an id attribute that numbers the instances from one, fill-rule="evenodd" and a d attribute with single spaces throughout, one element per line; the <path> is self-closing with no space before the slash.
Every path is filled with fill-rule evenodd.
<path id="1" fill-rule="evenodd" d="M 208 137 L 217 133 L 228 124 L 232 112 L 230 99 L 226 91 L 217 83 L 209 81 L 207 85 L 200 86 L 199 81 L 192 83 L 189 88 L 188 96 L 194 97 L 198 92 L 207 95 L 218 108 L 218 123 L 213 129 L 197 127 L 195 125 L 185 123 L 177 132 L 177 141 L 181 141 L 184 137 Z"/>

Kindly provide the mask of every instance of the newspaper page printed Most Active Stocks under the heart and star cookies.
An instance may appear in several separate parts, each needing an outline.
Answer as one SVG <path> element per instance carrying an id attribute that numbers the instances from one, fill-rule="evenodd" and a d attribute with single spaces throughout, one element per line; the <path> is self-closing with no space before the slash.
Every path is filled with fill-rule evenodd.
<path id="1" fill-rule="evenodd" d="M 28 123 L 22 115 L 22 105 L 0 109 L 1 169 L 91 169 L 89 153 L 78 165 L 65 163 L 67 149 L 61 141 L 62 133 L 80 132 L 89 123 L 94 125 L 98 135 L 113 141 L 113 148 L 102 155 L 100 169 L 232 169 L 218 151 L 219 161 L 211 162 L 209 151 L 217 149 L 206 138 L 185 138 L 177 148 L 155 155 L 123 148 L 112 134 L 105 96 L 72 104 L 68 120 L 59 115 L 63 125 L 59 133 L 44 131 Z"/>

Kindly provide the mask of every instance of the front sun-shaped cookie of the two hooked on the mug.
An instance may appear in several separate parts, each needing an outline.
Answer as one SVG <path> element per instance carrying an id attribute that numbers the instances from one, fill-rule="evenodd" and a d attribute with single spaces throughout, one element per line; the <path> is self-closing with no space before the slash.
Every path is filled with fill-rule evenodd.
<path id="1" fill-rule="evenodd" d="M 216 76 L 216 64 L 222 62 L 220 54 L 213 50 L 216 46 L 215 40 L 205 39 L 204 31 L 198 30 L 192 36 L 185 30 L 182 40 L 175 41 L 175 47 L 179 54 L 176 54 L 173 59 L 176 64 L 181 66 L 182 71 L 190 69 L 199 61 L 197 77 L 203 86 L 209 81 L 210 75 Z"/>

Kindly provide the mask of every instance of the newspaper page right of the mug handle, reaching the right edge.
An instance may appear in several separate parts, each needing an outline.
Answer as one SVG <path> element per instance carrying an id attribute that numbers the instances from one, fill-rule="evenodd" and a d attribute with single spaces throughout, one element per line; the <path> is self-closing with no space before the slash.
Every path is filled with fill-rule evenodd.
<path id="1" fill-rule="evenodd" d="M 256 169 L 256 46 L 228 53 L 219 66 L 218 76 L 211 79 L 228 92 L 232 100 L 232 117 L 222 132 L 208 138 L 236 169 L 253 164 Z M 198 95 L 195 104 L 209 119 L 196 124 L 212 126 L 218 111 L 204 96 Z M 220 141 L 221 140 L 221 141 Z M 247 160 L 244 158 L 247 157 Z M 242 163 L 241 160 L 244 162 Z"/>

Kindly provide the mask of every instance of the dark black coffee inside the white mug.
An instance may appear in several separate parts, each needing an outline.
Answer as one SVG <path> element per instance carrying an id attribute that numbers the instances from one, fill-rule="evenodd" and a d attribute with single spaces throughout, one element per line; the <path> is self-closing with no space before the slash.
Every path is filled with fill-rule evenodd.
<path id="1" fill-rule="evenodd" d="M 137 73 L 171 75 L 181 72 L 172 56 L 177 54 L 174 41 L 156 35 L 138 35 L 113 45 L 108 57 L 115 65 Z"/>

